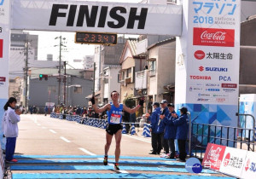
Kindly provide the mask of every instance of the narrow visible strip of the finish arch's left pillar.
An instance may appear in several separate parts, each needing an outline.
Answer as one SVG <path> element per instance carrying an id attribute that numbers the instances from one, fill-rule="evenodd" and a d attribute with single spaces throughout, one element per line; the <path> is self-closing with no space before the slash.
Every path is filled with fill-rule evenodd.
<path id="1" fill-rule="evenodd" d="M 10 1 L 0 0 L 0 126 L 2 126 L 3 106 L 8 100 L 9 90 L 9 12 Z M 4 149 L 2 128 L 0 140 Z"/>

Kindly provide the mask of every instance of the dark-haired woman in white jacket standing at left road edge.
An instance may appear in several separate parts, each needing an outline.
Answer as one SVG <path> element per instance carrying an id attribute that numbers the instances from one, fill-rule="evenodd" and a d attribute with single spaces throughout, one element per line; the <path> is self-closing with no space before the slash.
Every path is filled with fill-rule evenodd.
<path id="1" fill-rule="evenodd" d="M 4 105 L 3 115 L 3 135 L 6 136 L 5 160 L 7 162 L 17 162 L 14 159 L 16 138 L 19 133 L 18 122 L 20 122 L 20 109 L 15 110 L 17 100 L 10 97 Z"/>

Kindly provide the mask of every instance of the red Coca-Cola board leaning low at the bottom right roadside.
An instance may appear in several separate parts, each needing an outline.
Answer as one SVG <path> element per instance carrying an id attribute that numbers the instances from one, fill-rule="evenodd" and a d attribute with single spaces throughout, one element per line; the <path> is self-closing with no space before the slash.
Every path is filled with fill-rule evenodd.
<path id="1" fill-rule="evenodd" d="M 206 168 L 219 170 L 224 157 L 225 148 L 225 146 L 208 143 L 202 165 Z"/>

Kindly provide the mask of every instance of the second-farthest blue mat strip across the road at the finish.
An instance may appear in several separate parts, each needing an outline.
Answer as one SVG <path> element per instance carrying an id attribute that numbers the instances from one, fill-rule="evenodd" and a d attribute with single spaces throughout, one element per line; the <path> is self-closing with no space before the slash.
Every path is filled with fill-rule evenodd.
<path id="1" fill-rule="evenodd" d="M 114 160 L 108 160 L 109 163 L 115 163 Z M 84 159 L 19 159 L 15 164 L 101 164 L 102 160 L 84 160 Z M 184 166 L 185 163 L 174 161 L 150 162 L 150 161 L 119 161 L 119 164 L 125 165 L 176 165 Z"/>

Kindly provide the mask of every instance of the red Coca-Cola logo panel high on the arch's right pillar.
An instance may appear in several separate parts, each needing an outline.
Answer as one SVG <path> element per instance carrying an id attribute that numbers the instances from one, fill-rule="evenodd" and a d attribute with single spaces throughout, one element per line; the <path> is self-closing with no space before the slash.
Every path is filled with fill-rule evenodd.
<path id="1" fill-rule="evenodd" d="M 194 28 L 193 45 L 234 47 L 234 29 Z"/>

